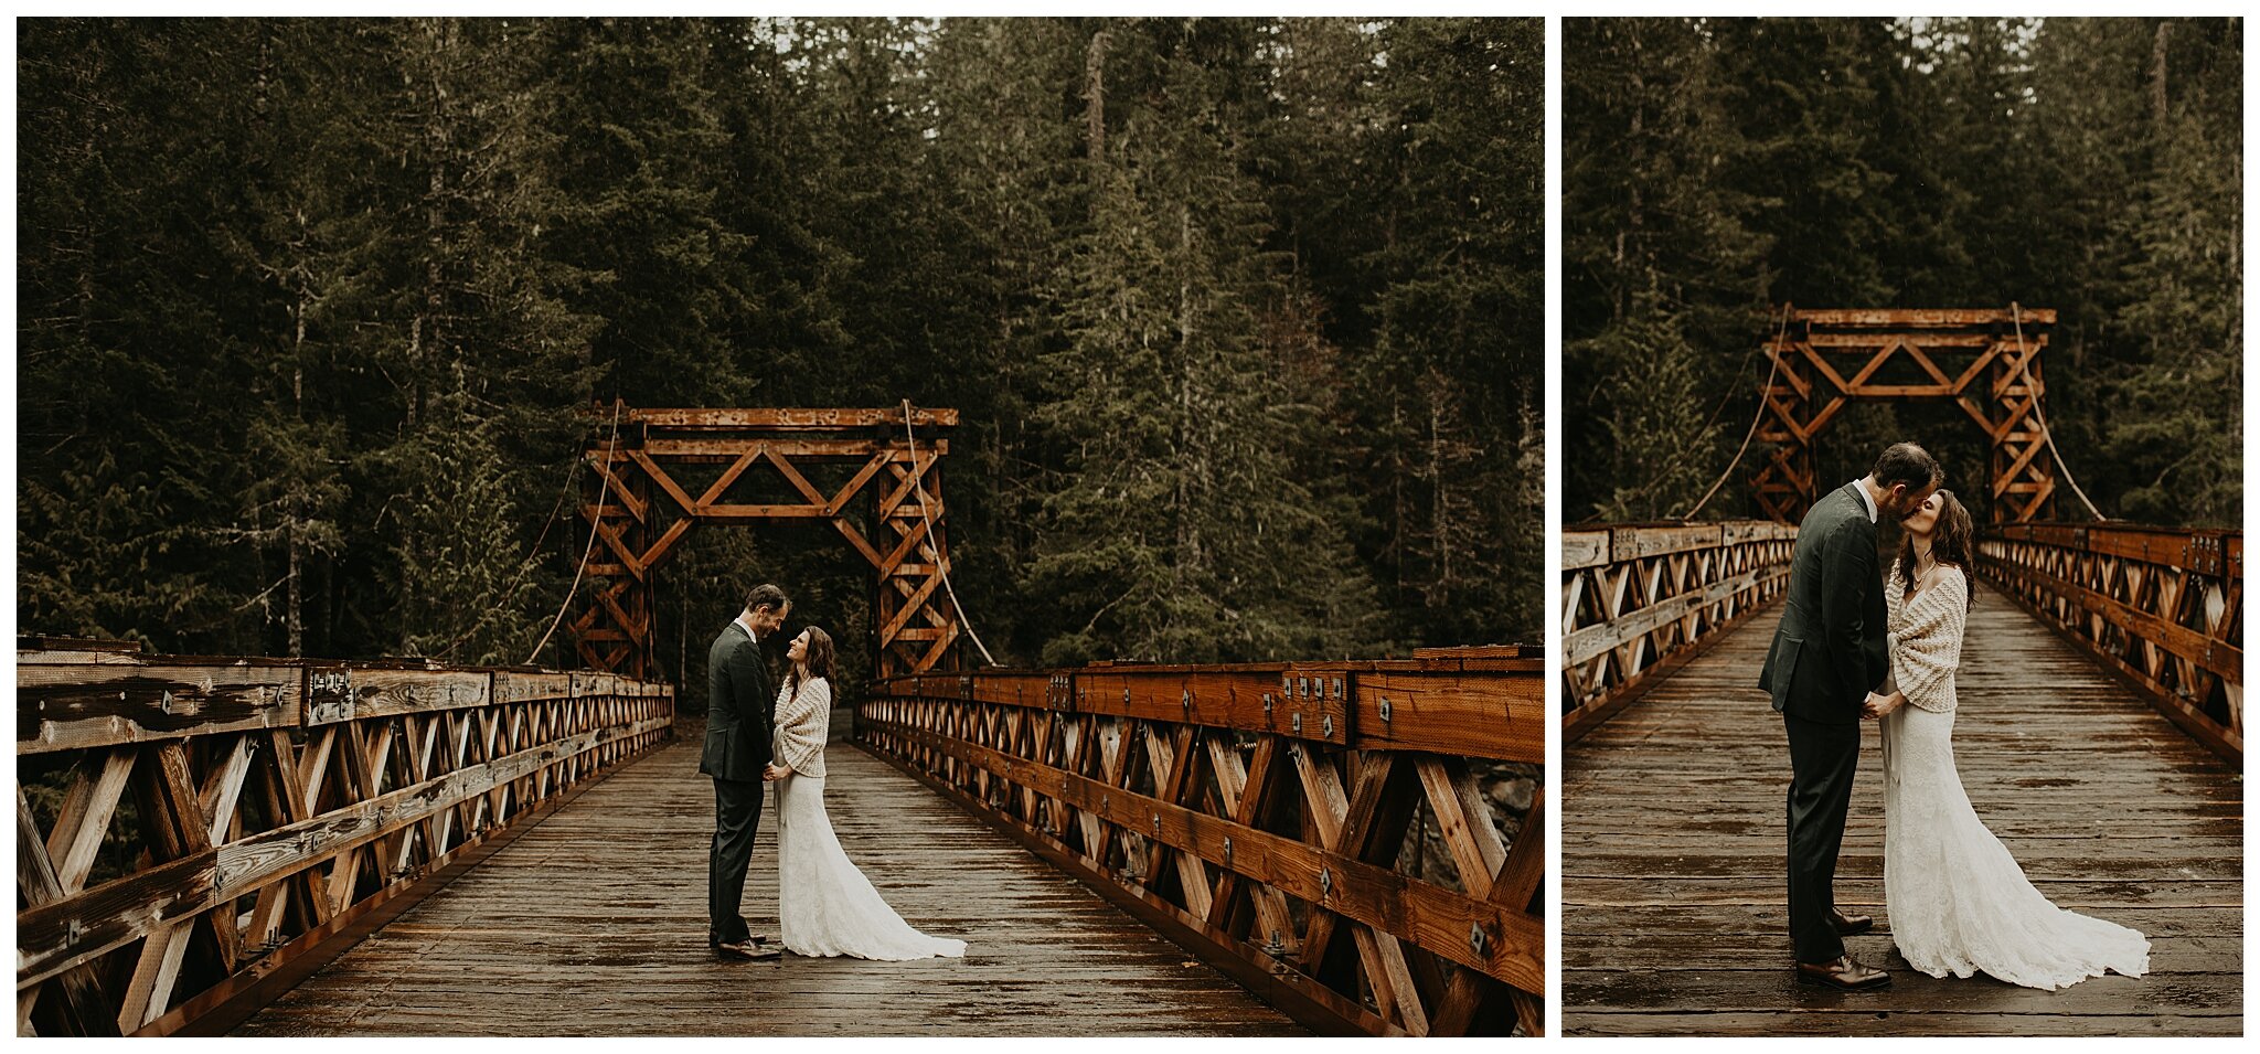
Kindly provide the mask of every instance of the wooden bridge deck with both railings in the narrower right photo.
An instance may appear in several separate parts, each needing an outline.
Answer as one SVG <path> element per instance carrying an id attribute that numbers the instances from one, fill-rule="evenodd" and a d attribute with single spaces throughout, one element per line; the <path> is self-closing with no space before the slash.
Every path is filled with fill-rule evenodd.
<path id="1" fill-rule="evenodd" d="M 1602 1034 L 2242 1034 L 2242 584 L 2235 532 L 1996 525 L 1955 749 L 2057 905 L 2152 936 L 2147 977 L 2045 993 L 1892 948 L 1867 728 L 1837 900 L 1880 993 L 1790 975 L 1781 719 L 1756 690 L 1797 529 L 1564 536 L 1562 1027 Z"/>

